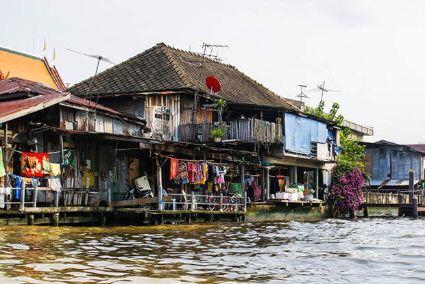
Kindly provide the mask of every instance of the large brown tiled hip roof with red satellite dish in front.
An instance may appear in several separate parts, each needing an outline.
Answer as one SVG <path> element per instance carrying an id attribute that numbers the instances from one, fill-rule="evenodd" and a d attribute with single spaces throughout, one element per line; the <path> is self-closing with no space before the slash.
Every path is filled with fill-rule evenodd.
<path id="1" fill-rule="evenodd" d="M 221 84 L 217 94 L 230 103 L 297 109 L 278 94 L 228 64 L 160 43 L 125 62 L 99 73 L 90 88 L 91 95 L 125 94 L 191 88 L 206 94 L 206 77 Z M 69 88 L 85 96 L 92 78 Z"/>

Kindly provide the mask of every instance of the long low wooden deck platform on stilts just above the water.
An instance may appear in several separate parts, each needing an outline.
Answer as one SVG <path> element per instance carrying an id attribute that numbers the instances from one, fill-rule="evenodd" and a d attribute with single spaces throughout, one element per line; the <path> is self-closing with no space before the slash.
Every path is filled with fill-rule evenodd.
<path id="1" fill-rule="evenodd" d="M 245 220 L 245 211 L 150 210 L 127 207 L 26 207 L 0 211 L 0 226 L 59 224 L 179 224 Z"/>

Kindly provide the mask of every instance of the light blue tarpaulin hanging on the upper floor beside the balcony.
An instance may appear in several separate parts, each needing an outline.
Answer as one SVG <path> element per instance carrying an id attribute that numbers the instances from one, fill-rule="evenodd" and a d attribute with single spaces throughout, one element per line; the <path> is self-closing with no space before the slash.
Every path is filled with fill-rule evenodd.
<path id="1" fill-rule="evenodd" d="M 311 153 L 311 142 L 326 143 L 326 123 L 295 114 L 284 114 L 285 146 L 288 151 Z"/>

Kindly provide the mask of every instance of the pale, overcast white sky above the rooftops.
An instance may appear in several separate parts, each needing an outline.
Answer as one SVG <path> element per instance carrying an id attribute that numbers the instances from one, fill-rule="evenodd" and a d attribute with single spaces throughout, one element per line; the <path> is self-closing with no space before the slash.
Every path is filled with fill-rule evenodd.
<path id="1" fill-rule="evenodd" d="M 66 83 L 93 76 L 96 60 L 119 63 L 159 42 L 215 49 L 277 94 L 297 99 L 299 84 L 324 94 L 325 110 L 373 127 L 368 142 L 425 142 L 425 1 L 1 1 L 0 45 L 49 60 Z M 99 70 L 112 65 L 101 62 Z M 320 92 L 306 92 L 317 106 Z"/>

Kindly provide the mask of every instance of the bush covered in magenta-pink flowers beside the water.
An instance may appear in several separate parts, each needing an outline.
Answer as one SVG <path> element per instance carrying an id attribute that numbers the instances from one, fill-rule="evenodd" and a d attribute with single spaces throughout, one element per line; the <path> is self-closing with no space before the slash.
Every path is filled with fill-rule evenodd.
<path id="1" fill-rule="evenodd" d="M 350 210 L 359 209 L 363 198 L 362 186 L 367 176 L 360 168 L 348 168 L 339 164 L 332 171 L 332 185 L 326 203 L 334 217 L 341 217 Z"/>

